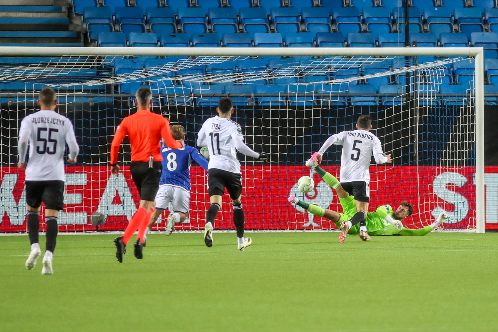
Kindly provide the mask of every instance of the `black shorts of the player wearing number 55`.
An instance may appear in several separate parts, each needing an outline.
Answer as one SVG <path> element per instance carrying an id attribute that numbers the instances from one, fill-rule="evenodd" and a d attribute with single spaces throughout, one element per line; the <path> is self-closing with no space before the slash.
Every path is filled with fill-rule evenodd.
<path id="1" fill-rule="evenodd" d="M 26 203 L 31 208 L 39 208 L 41 202 L 45 209 L 60 211 L 64 208 L 64 181 L 25 181 Z"/>

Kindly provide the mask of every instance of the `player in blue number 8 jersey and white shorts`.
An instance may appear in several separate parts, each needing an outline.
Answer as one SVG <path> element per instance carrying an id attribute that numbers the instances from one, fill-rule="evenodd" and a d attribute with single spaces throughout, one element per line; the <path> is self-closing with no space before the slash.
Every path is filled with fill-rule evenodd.
<path id="1" fill-rule="evenodd" d="M 155 197 L 155 210 L 150 218 L 145 235 L 152 225 L 167 209 L 169 202 L 173 205 L 173 213 L 169 214 L 166 222 L 166 235 L 174 230 L 175 223 L 183 222 L 190 210 L 190 165 L 192 160 L 208 170 L 208 161 L 196 148 L 185 145 L 185 128 L 182 125 L 171 126 L 173 138 L 183 144 L 182 148 L 171 149 L 167 146 L 161 148 L 162 174 L 159 190 Z"/>

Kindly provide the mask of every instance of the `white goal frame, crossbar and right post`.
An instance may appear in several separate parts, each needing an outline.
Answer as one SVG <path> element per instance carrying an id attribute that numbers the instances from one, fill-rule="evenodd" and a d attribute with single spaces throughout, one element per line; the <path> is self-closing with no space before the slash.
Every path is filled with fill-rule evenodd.
<path id="1" fill-rule="evenodd" d="M 201 47 L 0 47 L 0 57 L 15 56 L 189 56 L 189 57 L 387 57 L 387 56 L 462 56 L 475 61 L 475 230 L 485 231 L 484 185 L 484 49 L 481 47 L 379 47 L 379 48 L 201 48 Z M 15 80 L 15 77 L 13 77 Z M 81 84 L 81 83 L 80 83 Z M 84 84 L 84 83 L 83 83 Z M 264 144 L 263 144 L 264 145 Z M 310 151 L 311 152 L 311 151 Z"/>

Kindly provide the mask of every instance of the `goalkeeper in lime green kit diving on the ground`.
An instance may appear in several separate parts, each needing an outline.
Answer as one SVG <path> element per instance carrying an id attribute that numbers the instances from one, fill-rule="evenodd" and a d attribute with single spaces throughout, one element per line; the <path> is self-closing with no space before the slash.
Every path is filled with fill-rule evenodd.
<path id="1" fill-rule="evenodd" d="M 357 213 L 355 198 L 350 196 L 341 186 L 337 186 L 339 180 L 335 176 L 326 172 L 320 166 L 315 167 L 315 171 L 331 188 L 337 188 L 336 192 L 343 208 L 343 213 L 322 209 L 314 204 L 305 203 L 297 199 L 294 195 L 289 196 L 287 201 L 300 206 L 315 216 L 327 218 L 334 222 L 337 227 L 341 228 L 341 234 L 339 235 L 340 242 L 344 242 L 347 234 L 358 235 L 360 233 L 360 223 L 352 224 L 351 222 L 351 218 Z M 375 212 L 367 213 L 369 234 L 421 236 L 429 233 L 448 219 L 446 213 L 441 213 L 438 219 L 428 226 L 420 229 L 406 228 L 401 221 L 409 217 L 412 213 L 413 208 L 408 202 L 402 202 L 396 211 L 390 205 L 382 205 Z"/>

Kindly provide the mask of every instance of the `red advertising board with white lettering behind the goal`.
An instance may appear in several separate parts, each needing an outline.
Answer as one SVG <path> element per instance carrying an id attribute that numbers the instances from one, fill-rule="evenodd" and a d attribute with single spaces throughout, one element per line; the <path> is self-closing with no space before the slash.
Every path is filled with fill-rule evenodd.
<path id="1" fill-rule="evenodd" d="M 324 167 L 339 175 L 339 167 Z M 474 167 L 411 167 L 372 166 L 370 211 L 390 204 L 395 209 L 406 200 L 413 205 L 414 214 L 404 221 L 405 226 L 419 228 L 431 223 L 444 209 L 452 223 L 446 228 L 475 227 Z M 26 203 L 24 172 L 17 168 L 1 169 L 0 232 L 26 231 Z M 303 194 L 297 190 L 297 179 L 312 176 L 315 189 Z M 191 211 L 176 229 L 202 229 L 205 223 L 209 197 L 206 172 L 191 168 Z M 246 229 L 320 229 L 336 228 L 328 220 L 315 217 L 287 203 L 290 194 L 322 208 L 342 211 L 335 193 L 321 178 L 301 166 L 243 167 L 244 211 Z M 498 167 L 486 168 L 487 229 L 498 229 Z M 60 231 L 95 230 L 90 224 L 92 213 L 106 216 L 101 230 L 124 230 L 128 219 L 136 211 L 139 201 L 129 170 L 115 177 L 108 167 L 66 167 L 65 209 L 59 218 Z M 43 211 L 42 211 L 43 212 Z M 165 215 L 165 214 L 164 214 Z M 164 216 L 154 227 L 164 228 Z M 216 228 L 233 229 L 232 207 L 224 196 Z"/>

